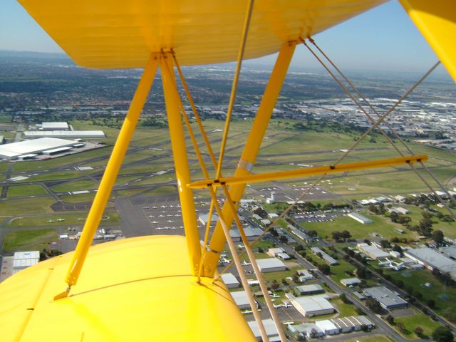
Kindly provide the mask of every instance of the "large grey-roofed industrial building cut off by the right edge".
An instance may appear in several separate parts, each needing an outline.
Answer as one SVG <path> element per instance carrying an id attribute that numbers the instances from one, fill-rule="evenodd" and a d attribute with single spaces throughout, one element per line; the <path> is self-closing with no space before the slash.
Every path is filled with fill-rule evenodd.
<path id="1" fill-rule="evenodd" d="M 456 261 L 445 257 L 445 255 L 440 254 L 432 248 L 408 249 L 404 252 L 404 255 L 430 269 L 430 271 L 438 269 L 442 273 L 450 274 L 452 279 L 456 280 Z"/>

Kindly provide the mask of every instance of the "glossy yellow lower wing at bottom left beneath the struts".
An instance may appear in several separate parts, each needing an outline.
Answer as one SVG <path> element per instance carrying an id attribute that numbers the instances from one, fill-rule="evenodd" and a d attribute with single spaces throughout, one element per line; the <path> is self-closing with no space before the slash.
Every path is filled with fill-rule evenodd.
<path id="1" fill-rule="evenodd" d="M 1 284 L 2 341 L 256 341 L 224 284 L 191 276 L 184 237 L 94 246 L 78 286 L 53 301 L 72 254 Z"/>

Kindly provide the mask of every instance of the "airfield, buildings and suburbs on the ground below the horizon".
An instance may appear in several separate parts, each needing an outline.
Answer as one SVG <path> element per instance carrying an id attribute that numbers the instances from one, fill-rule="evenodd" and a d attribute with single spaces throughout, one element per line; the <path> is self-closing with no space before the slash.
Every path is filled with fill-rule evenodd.
<path id="1" fill-rule="evenodd" d="M 128 109 L 131 85 L 138 80 L 137 71 L 88 71 L 73 67 L 66 58 L 16 53 L 11 59 L 12 54 L 0 54 L 1 280 L 75 249 Z M 21 75 L 23 68 L 33 72 Z M 195 98 L 203 103 L 198 110 L 217 150 L 232 66 L 215 66 L 210 79 L 205 68 L 185 72 L 191 76 Z M 328 165 L 367 130 L 366 115 L 321 75 L 289 75 L 254 172 Z M 234 108 L 225 172 L 237 165 L 257 110 L 259 85 L 268 74 L 247 68 L 243 77 L 249 83 L 240 89 Z M 357 77 L 371 102 L 382 109 L 410 81 L 383 88 L 381 74 Z M 119 78 L 130 88 L 118 88 Z M 323 90 L 308 94 L 307 83 Z M 94 244 L 184 232 L 160 87 L 159 82 L 154 85 L 146 103 Z M 417 167 L 417 175 L 409 165 L 398 165 L 247 185 L 239 215 L 249 241 L 260 238 L 253 245 L 255 257 L 291 341 L 418 341 L 430 339 L 441 326 L 454 329 L 456 222 L 450 197 L 456 195 L 455 95 L 447 79 L 433 78 L 390 118 L 389 127 L 398 136 L 382 127 L 402 152 L 406 150 L 399 140 L 415 154 L 428 155 L 425 165 L 436 179 L 423 167 Z M 190 112 L 190 105 L 185 109 Z M 196 125 L 195 118 L 191 125 Z M 189 149 L 192 180 L 202 179 L 197 156 Z M 374 130 L 345 159 L 367 162 L 397 153 Z M 209 160 L 204 149 L 203 156 Z M 204 237 L 210 197 L 195 190 L 195 199 Z M 214 214 L 212 229 L 216 223 Z M 239 230 L 233 226 L 230 234 L 242 253 Z M 241 259 L 247 275 L 252 275 L 249 259 Z M 225 269 L 231 261 L 226 249 L 218 271 L 259 336 L 239 274 L 234 267 Z M 262 309 L 258 281 L 251 278 Z M 273 322 L 260 312 L 275 341 Z"/>

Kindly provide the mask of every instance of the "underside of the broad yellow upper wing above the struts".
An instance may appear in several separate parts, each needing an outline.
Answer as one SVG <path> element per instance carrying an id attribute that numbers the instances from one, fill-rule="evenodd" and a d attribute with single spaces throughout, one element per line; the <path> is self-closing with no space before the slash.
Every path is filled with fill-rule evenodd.
<path id="1" fill-rule="evenodd" d="M 174 48 L 181 65 L 235 61 L 245 0 L 19 0 L 68 56 L 88 68 L 142 68 Z M 279 51 L 385 0 L 257 0 L 246 58 Z"/>

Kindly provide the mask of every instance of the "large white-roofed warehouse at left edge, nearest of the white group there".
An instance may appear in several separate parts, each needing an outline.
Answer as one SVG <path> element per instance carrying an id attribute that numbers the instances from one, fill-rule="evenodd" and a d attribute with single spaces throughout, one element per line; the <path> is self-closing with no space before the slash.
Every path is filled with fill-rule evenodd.
<path id="1" fill-rule="evenodd" d="M 14 160 L 23 157 L 31 157 L 40 154 L 56 154 L 64 150 L 71 150 L 73 147 L 81 147 L 81 142 L 57 138 L 39 138 L 12 142 L 11 144 L 0 145 L 0 158 Z"/>

